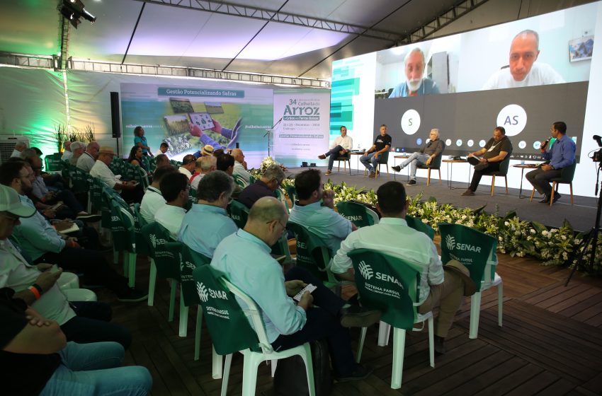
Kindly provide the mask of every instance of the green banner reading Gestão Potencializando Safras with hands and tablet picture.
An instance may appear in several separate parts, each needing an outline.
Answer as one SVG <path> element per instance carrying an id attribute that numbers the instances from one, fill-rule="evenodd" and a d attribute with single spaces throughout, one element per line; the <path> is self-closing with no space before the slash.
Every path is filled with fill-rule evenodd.
<path id="1" fill-rule="evenodd" d="M 154 154 L 161 142 L 169 144 L 167 155 L 176 160 L 205 144 L 225 150 L 239 146 L 249 167 L 258 167 L 266 155 L 263 134 L 272 126 L 273 90 L 188 84 L 121 84 L 125 150 L 133 146 L 133 130 L 141 125 Z"/>

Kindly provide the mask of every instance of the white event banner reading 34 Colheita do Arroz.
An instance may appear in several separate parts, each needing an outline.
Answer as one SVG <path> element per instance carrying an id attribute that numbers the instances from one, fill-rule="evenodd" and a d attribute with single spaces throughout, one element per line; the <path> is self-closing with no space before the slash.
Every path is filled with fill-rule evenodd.
<path id="1" fill-rule="evenodd" d="M 279 123 L 278 123 L 279 122 Z M 274 93 L 273 156 L 285 166 L 317 163 L 329 146 L 330 91 Z"/>

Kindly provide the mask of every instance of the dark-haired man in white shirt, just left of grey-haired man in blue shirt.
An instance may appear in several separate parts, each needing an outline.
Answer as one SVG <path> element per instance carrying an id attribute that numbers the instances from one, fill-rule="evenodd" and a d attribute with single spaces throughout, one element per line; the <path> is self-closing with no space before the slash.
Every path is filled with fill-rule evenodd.
<path id="1" fill-rule="evenodd" d="M 170 174 L 169 177 L 161 180 L 159 188 L 167 204 L 157 210 L 157 213 L 154 214 L 154 221 L 167 228 L 171 238 L 176 240 L 184 215 L 186 215 L 184 205 L 188 202 L 190 191 L 188 177 L 182 173 Z"/>

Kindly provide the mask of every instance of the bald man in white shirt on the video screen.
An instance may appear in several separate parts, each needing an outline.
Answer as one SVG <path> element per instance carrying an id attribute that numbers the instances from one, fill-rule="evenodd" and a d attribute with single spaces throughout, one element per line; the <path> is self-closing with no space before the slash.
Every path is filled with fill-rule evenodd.
<path id="1" fill-rule="evenodd" d="M 510 65 L 496 71 L 483 86 L 486 89 L 516 88 L 523 86 L 543 86 L 564 83 L 552 66 L 538 59 L 539 35 L 534 30 L 523 30 L 514 36 L 510 45 Z"/>

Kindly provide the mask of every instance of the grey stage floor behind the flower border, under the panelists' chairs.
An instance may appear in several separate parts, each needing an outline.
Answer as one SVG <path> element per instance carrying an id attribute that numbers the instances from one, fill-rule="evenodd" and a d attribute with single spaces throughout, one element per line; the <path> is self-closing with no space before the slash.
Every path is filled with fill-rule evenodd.
<path id="1" fill-rule="evenodd" d="M 289 168 L 287 175 L 294 177 L 296 173 L 301 172 L 307 168 Z M 326 172 L 326 167 L 318 167 L 317 169 L 322 170 L 322 175 Z M 384 169 L 384 167 L 383 167 Z M 323 176 L 322 180 L 332 180 L 334 183 L 345 182 L 349 186 L 354 186 L 362 189 L 373 189 L 377 190 L 378 186 L 384 182 L 394 180 L 394 170 L 390 169 L 390 173 L 381 173 L 377 179 L 370 179 L 363 175 L 363 172 L 357 173 L 357 170 L 346 171 L 341 168 L 341 171 L 336 170 L 336 166 L 331 175 Z M 540 204 L 539 201 L 542 197 L 535 192 L 533 202 L 529 202 L 529 196 L 531 194 L 532 186 L 524 179 L 523 180 L 523 191 L 522 198 L 519 199 L 519 190 L 515 188 L 509 188 L 508 194 L 506 194 L 504 187 L 504 177 L 496 177 L 495 194 L 491 196 L 491 181 L 492 177 L 483 177 L 481 184 L 475 192 L 473 197 L 462 197 L 462 192 L 468 187 L 468 182 L 453 182 L 453 189 L 448 187 L 448 181 L 445 180 L 445 173 L 441 173 L 441 184 L 438 180 L 438 172 L 432 171 L 431 173 L 431 185 L 426 187 L 426 170 L 418 170 L 416 173 L 416 185 L 406 186 L 407 194 L 415 196 L 416 194 L 423 194 L 423 199 L 429 197 L 435 197 L 437 202 L 441 204 L 452 204 L 458 208 L 469 207 L 477 209 L 483 205 L 487 213 L 494 213 L 497 210 L 500 216 L 504 216 L 509 211 L 516 211 L 518 217 L 525 221 L 538 221 L 545 224 L 548 227 L 560 227 L 567 219 L 571 223 L 572 227 L 577 231 L 589 231 L 594 226 L 596 219 L 596 198 L 595 197 L 581 197 L 573 196 L 573 205 L 571 205 L 569 186 L 560 185 L 559 192 L 562 197 L 551 207 L 547 204 Z M 421 177 L 423 176 L 423 177 Z M 407 183 L 407 169 L 403 169 L 401 173 L 397 173 L 396 179 L 398 182 Z M 486 184 L 487 183 L 487 184 Z M 595 187 L 595 180 L 591 181 L 592 190 Z"/>

